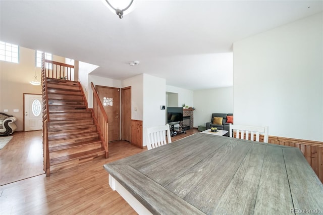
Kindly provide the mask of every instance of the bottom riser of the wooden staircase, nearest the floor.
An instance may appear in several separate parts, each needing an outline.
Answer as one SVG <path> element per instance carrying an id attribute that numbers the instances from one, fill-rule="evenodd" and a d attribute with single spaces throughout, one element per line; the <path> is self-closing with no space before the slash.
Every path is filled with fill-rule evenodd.
<path id="1" fill-rule="evenodd" d="M 104 151 L 97 153 L 94 156 L 89 156 L 87 158 L 79 158 L 79 159 L 69 160 L 67 162 L 56 164 L 56 165 L 50 165 L 50 173 L 56 173 L 62 170 L 67 170 L 102 158 L 104 158 Z"/>

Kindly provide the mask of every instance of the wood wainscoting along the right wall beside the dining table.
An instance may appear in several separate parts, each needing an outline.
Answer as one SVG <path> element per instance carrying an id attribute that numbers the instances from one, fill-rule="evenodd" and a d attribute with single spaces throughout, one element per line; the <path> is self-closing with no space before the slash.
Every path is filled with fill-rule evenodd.
<path id="1" fill-rule="evenodd" d="M 308 164 L 323 183 L 323 142 L 269 136 L 268 143 L 299 148 Z"/>

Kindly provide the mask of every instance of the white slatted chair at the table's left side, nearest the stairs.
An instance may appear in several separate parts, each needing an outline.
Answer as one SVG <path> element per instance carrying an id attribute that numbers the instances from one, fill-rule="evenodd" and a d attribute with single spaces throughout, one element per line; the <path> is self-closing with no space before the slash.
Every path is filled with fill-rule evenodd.
<path id="1" fill-rule="evenodd" d="M 172 142 L 169 125 L 145 128 L 144 131 L 145 131 L 148 150 L 152 148 L 157 148 L 161 145 L 166 145 Z M 166 134 L 167 134 L 167 141 L 166 141 Z"/>

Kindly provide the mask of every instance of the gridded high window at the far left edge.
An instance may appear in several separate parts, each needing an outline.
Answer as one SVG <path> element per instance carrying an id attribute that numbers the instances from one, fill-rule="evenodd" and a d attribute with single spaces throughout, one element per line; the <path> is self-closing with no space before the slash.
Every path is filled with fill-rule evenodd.
<path id="1" fill-rule="evenodd" d="M 0 60 L 19 63 L 19 46 L 0 41 Z"/>

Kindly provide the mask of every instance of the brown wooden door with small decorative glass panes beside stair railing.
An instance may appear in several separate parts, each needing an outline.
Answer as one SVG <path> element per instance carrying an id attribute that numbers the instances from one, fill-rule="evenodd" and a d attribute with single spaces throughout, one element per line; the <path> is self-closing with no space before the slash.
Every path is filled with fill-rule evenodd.
<path id="1" fill-rule="evenodd" d="M 107 141 L 120 140 L 120 88 L 95 86 L 107 115 Z"/>

